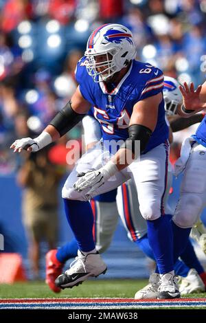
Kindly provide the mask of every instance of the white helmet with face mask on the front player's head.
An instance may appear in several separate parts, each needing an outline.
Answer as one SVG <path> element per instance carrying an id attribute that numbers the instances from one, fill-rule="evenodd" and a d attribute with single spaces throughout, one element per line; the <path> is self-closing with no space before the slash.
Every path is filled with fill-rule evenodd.
<path id="1" fill-rule="evenodd" d="M 97 56 L 104 54 L 104 61 L 96 61 Z M 117 23 L 102 25 L 89 36 L 85 56 L 88 58 L 87 71 L 93 80 L 95 82 L 106 80 L 135 58 L 133 35 L 124 25 Z"/>

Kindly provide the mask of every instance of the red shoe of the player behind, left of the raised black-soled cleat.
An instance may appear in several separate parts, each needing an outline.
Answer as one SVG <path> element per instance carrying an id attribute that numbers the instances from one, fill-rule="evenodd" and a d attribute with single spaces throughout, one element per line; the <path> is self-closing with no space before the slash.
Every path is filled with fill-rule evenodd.
<path id="1" fill-rule="evenodd" d="M 57 249 L 50 250 L 46 254 L 46 280 L 45 282 L 54 293 L 60 293 L 61 289 L 55 285 L 56 278 L 62 274 L 64 263 L 56 258 Z"/>

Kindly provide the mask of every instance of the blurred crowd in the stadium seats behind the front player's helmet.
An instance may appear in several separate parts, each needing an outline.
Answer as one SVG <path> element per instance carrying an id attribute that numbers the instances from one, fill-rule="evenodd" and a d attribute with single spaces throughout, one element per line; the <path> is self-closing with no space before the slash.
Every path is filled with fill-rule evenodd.
<path id="1" fill-rule="evenodd" d="M 40 133 L 69 100 L 87 38 L 107 22 L 132 30 L 137 59 L 179 82 L 205 79 L 206 0 L 0 0 L 0 174 L 16 169 L 12 141 Z"/>

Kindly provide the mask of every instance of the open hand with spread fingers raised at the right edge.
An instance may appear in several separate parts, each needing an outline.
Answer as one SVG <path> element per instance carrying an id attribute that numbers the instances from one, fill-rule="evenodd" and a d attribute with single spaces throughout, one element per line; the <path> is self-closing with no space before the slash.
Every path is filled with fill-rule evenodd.
<path id="1" fill-rule="evenodd" d="M 183 86 L 179 86 L 179 89 L 183 96 L 183 104 L 187 110 L 201 110 L 206 108 L 206 103 L 201 102 L 200 93 L 202 85 L 198 85 L 197 89 L 194 89 L 194 83 L 190 83 L 188 87 L 187 83 L 184 82 Z"/>

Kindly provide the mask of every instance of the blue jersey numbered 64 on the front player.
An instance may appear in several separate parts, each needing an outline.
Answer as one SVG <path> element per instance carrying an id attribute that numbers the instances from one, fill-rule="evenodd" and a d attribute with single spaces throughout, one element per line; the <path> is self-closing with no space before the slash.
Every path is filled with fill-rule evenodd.
<path id="1" fill-rule="evenodd" d="M 125 141 L 128 138 L 128 125 L 135 103 L 162 92 L 162 71 L 148 63 L 133 60 L 126 75 L 117 87 L 109 92 L 105 82 L 94 82 L 87 74 L 86 64 L 87 58 L 84 56 L 78 62 L 76 80 L 80 85 L 82 96 L 91 103 L 91 112 L 100 122 L 103 140 Z M 164 100 L 161 100 L 157 126 L 144 153 L 167 139 L 168 125 L 165 122 Z"/>

